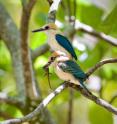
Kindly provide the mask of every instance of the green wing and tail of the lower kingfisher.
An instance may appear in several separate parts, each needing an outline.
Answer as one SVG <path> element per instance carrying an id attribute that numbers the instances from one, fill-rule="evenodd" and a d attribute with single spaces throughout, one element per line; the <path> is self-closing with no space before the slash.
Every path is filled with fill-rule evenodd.
<path id="1" fill-rule="evenodd" d="M 67 60 L 67 61 L 64 61 L 62 63 L 63 64 L 60 65 L 60 68 L 64 72 L 72 74 L 73 77 L 80 82 L 81 86 L 83 86 L 86 90 L 88 90 L 86 88 L 86 86 L 84 85 L 84 83 L 83 83 L 86 80 L 87 76 L 82 71 L 80 66 L 77 63 L 75 63 L 74 61 L 72 61 L 72 60 Z"/>

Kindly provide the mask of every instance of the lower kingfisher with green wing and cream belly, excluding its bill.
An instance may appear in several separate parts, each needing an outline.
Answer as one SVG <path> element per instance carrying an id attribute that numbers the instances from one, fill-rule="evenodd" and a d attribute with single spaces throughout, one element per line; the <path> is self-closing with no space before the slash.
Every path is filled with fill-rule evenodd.
<path id="1" fill-rule="evenodd" d="M 52 54 L 52 57 L 56 57 L 55 61 L 52 63 L 52 66 L 55 69 L 55 73 L 61 80 L 69 81 L 77 85 L 80 84 L 88 91 L 84 85 L 87 75 L 82 71 L 76 62 L 70 60 L 70 58 L 61 51 L 56 51 Z"/>

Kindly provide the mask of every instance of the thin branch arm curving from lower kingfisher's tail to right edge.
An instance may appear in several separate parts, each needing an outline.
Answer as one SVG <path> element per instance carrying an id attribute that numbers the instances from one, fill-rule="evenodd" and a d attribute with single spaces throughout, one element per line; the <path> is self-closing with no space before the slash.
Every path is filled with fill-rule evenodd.
<path id="1" fill-rule="evenodd" d="M 117 63 L 117 58 L 111 58 L 100 61 L 94 67 L 89 69 L 89 71 L 86 73 L 87 77 L 89 77 L 92 73 L 94 73 L 94 71 L 96 71 L 98 68 L 100 68 L 101 66 L 107 63 Z"/>

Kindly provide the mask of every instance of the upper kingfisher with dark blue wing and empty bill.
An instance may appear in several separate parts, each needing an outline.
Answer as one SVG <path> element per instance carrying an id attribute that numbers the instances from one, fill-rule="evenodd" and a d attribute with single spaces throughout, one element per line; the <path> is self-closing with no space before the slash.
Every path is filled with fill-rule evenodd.
<path id="1" fill-rule="evenodd" d="M 48 36 L 48 44 L 53 51 L 62 51 L 72 59 L 77 60 L 76 53 L 70 41 L 61 34 L 57 26 L 54 23 L 49 23 L 41 27 L 40 29 L 33 30 L 32 32 L 44 31 Z"/>

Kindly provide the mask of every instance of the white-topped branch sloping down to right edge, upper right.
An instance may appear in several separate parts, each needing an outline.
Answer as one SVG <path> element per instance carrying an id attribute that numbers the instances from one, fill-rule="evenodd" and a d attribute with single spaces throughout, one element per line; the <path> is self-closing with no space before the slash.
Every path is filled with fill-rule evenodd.
<path id="1" fill-rule="evenodd" d="M 97 38 L 100 38 L 100 39 L 106 41 L 107 43 L 109 43 L 113 46 L 117 46 L 117 38 L 113 38 L 109 35 L 104 34 L 103 32 L 97 32 L 91 26 L 83 24 L 83 23 L 79 22 L 78 20 L 76 20 L 76 24 L 77 24 L 76 25 L 77 31 L 82 31 L 82 32 L 88 33 L 90 35 L 93 35 Z"/>

